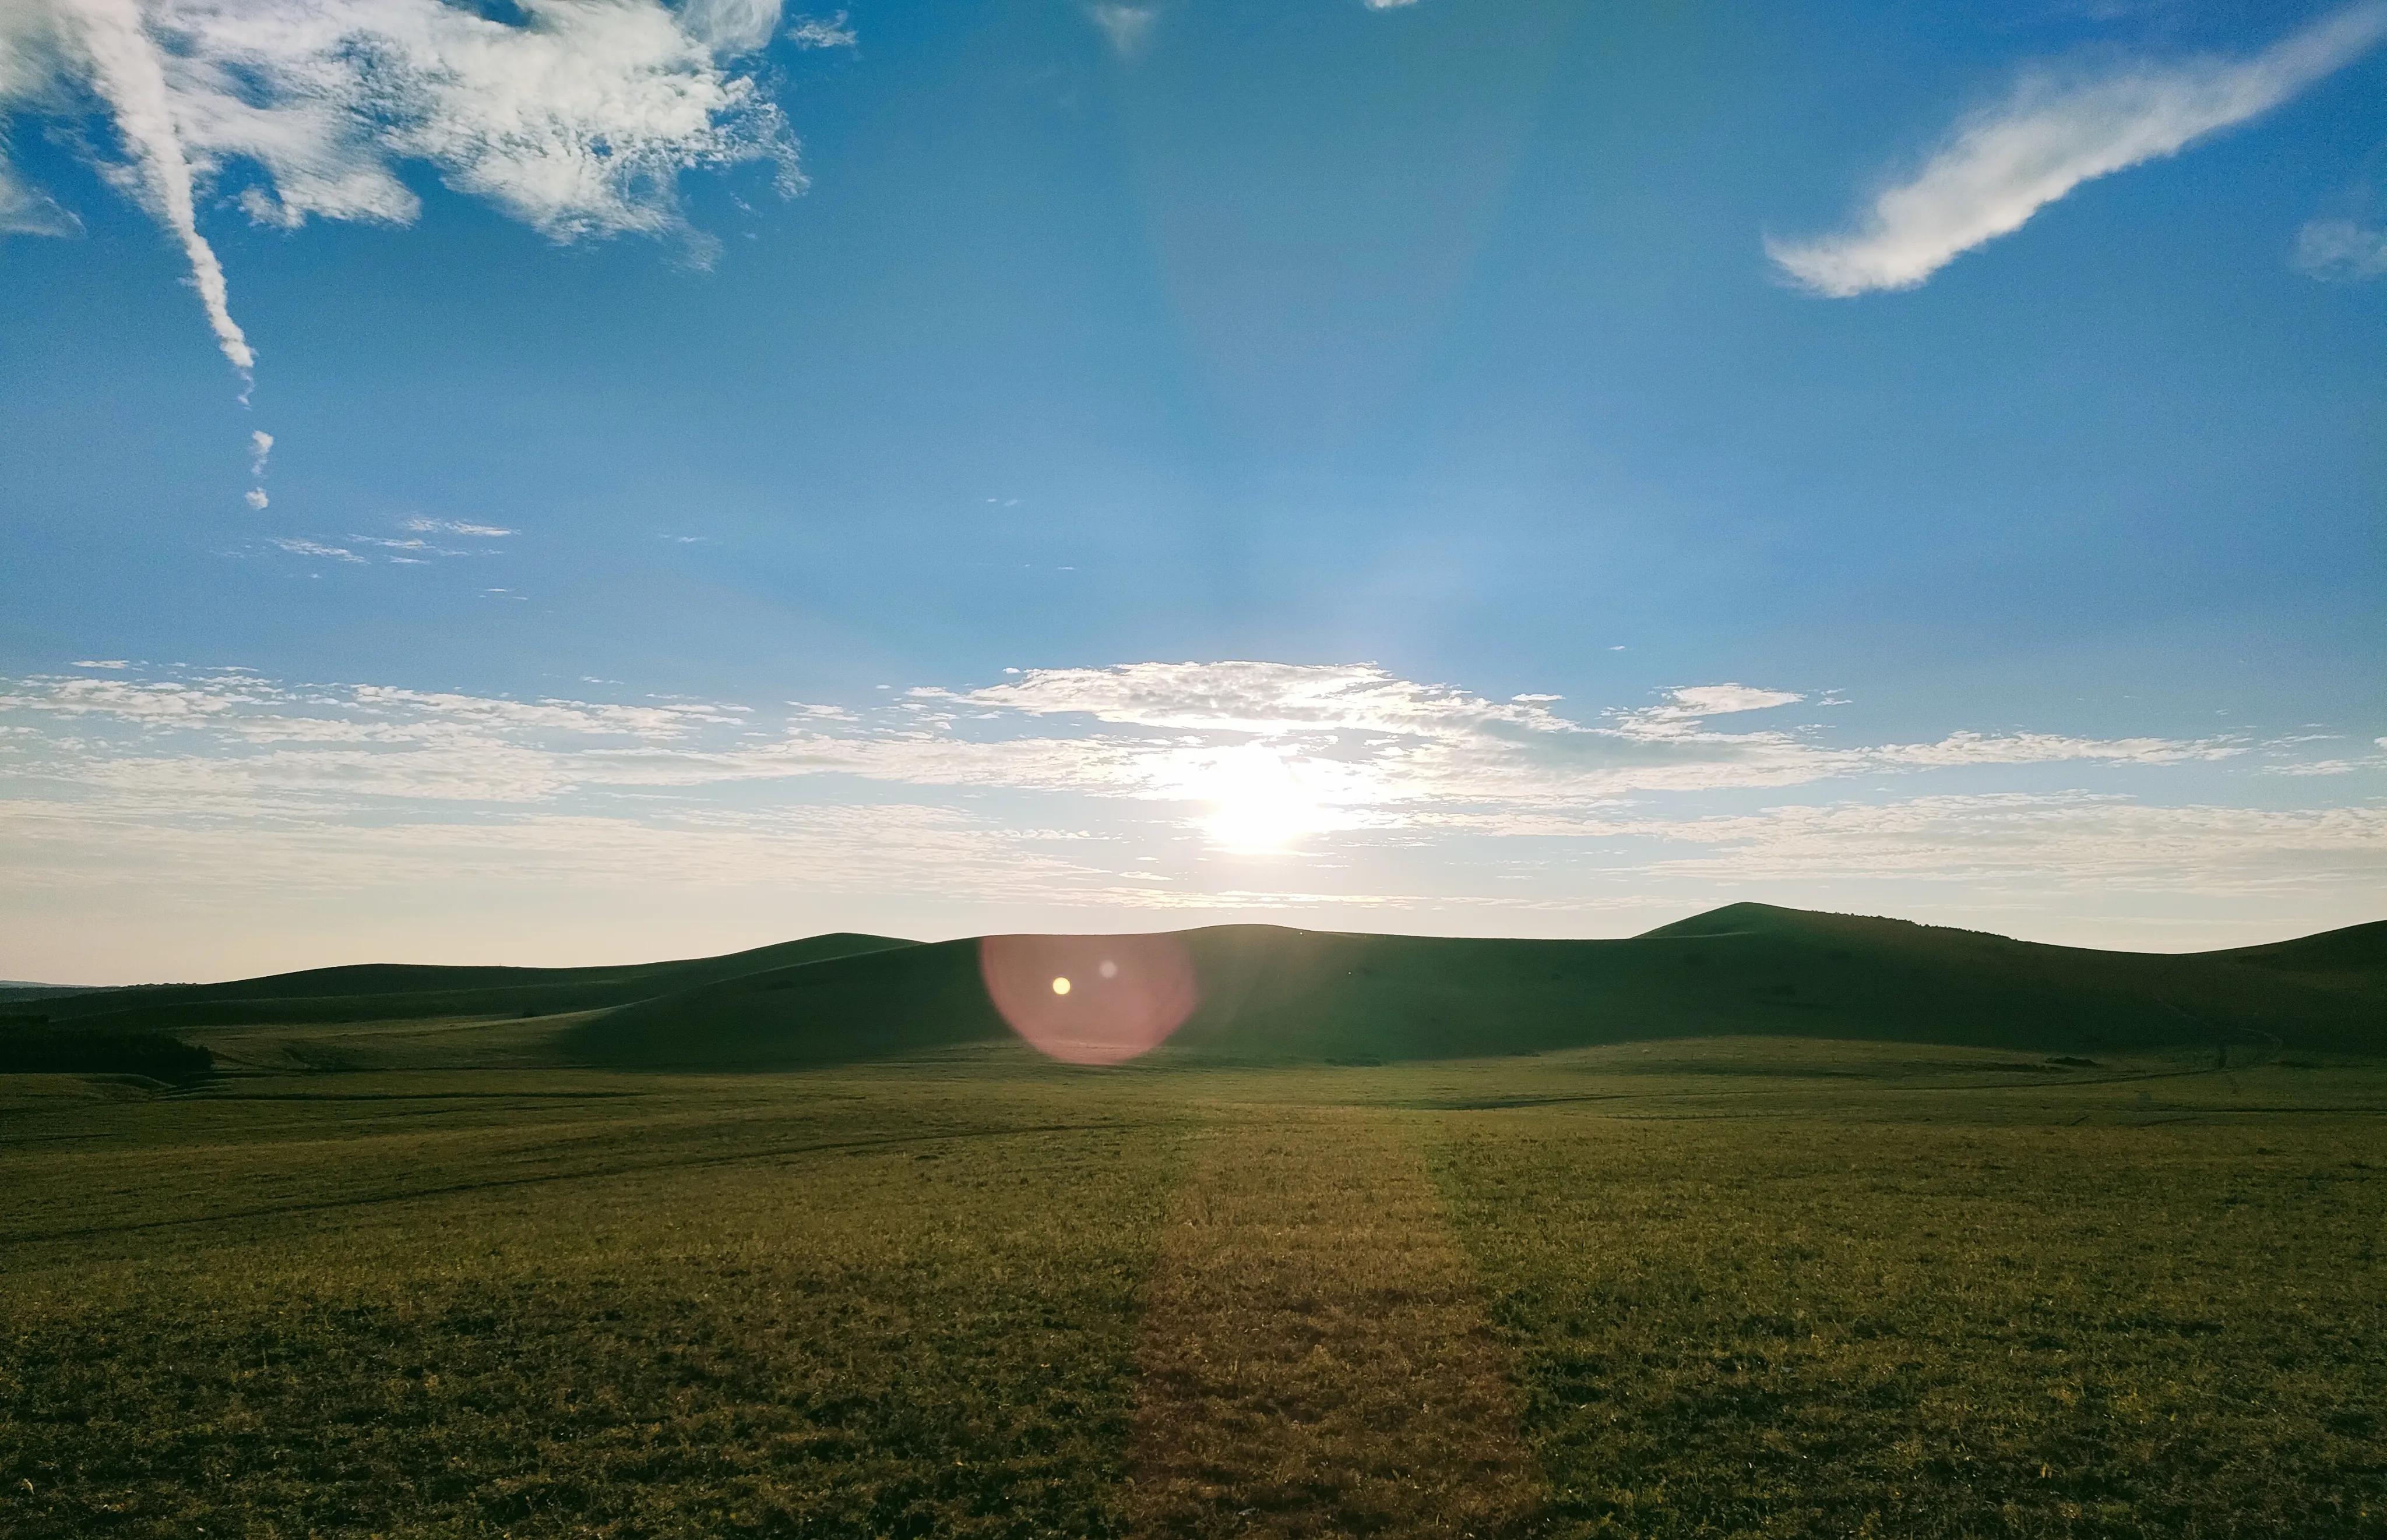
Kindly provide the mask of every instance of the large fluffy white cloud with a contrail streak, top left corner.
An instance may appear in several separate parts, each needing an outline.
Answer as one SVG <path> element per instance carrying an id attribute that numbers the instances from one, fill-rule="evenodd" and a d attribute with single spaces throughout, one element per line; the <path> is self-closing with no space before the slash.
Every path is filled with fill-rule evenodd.
<path id="1" fill-rule="evenodd" d="M 260 224 L 411 224 L 399 167 L 422 162 L 556 238 L 676 234 L 678 176 L 776 162 L 795 141 L 733 57 L 769 0 L 518 0 L 518 21 L 444 0 L 10 0 L 0 114 L 95 98 L 124 162 L 103 169 L 181 243 L 217 346 L 255 365 L 198 231 L 203 191 L 239 184 Z M 88 93 L 81 95 L 81 93 Z M 14 188 L 17 184 L 5 184 Z M 36 207 L 0 191 L 0 210 Z"/>

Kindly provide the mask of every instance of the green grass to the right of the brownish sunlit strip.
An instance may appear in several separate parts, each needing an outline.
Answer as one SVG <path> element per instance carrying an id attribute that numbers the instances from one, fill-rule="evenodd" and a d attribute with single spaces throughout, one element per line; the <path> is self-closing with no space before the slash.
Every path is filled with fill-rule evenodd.
<path id="1" fill-rule="evenodd" d="M 2380 1120 L 2210 1092 L 1444 1128 L 1552 1530 L 2387 1530 Z"/>

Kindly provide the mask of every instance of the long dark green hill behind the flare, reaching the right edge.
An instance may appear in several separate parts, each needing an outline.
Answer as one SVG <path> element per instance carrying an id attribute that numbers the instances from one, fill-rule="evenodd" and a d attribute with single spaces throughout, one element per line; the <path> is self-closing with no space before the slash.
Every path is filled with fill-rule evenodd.
<path id="1" fill-rule="evenodd" d="M 1155 1061 L 1399 1061 L 1690 1035 L 2029 1051 L 2387 1051 L 2387 965 L 2117 954 L 1735 903 L 1623 942 L 1222 925 L 1174 937 L 1201 1006 Z M 974 942 L 752 973 L 578 1025 L 611 1066 L 766 1068 L 1007 1037 Z M 2334 954 L 2330 954 L 2334 956 Z"/>

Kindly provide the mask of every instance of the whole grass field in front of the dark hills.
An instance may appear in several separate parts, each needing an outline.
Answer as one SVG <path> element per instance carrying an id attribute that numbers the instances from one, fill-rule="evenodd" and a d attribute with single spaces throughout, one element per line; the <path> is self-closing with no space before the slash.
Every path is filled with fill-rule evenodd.
<path id="1" fill-rule="evenodd" d="M 0 1533 L 2387 1535 L 2375 1063 L 487 1030 L 0 1078 Z"/>

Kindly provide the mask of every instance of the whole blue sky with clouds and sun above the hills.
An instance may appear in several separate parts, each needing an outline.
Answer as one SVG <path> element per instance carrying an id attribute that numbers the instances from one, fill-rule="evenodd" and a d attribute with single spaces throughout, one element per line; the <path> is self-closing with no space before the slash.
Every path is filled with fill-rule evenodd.
<path id="1" fill-rule="evenodd" d="M 2387 0 L 0 0 L 0 977 L 2387 918 Z"/>

